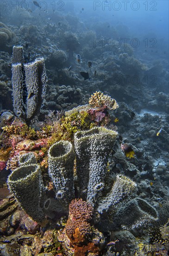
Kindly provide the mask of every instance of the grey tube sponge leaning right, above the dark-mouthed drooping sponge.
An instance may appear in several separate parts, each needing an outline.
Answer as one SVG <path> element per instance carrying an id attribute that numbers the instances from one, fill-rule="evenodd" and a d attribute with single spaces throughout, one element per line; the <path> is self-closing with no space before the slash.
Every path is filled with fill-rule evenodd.
<path id="1" fill-rule="evenodd" d="M 135 189 L 136 183 L 131 181 L 130 178 L 124 175 L 117 175 L 111 191 L 105 197 L 101 198 L 97 210 L 99 213 L 107 211 L 111 206 L 126 199 Z"/>

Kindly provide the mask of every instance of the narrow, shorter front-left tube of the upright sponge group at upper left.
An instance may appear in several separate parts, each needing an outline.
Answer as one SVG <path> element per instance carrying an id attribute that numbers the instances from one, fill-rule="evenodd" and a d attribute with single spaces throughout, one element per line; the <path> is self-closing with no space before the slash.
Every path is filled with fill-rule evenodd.
<path id="1" fill-rule="evenodd" d="M 25 119 L 23 65 L 12 65 L 13 109 L 17 117 Z"/>

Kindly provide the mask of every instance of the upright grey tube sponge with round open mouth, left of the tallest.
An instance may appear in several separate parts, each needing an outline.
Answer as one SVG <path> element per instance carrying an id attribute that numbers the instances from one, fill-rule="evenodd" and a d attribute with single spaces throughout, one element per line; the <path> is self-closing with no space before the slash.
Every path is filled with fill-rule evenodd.
<path id="1" fill-rule="evenodd" d="M 53 144 L 48 152 L 49 175 L 56 189 L 56 198 L 69 203 L 74 198 L 74 151 L 69 141 Z"/>

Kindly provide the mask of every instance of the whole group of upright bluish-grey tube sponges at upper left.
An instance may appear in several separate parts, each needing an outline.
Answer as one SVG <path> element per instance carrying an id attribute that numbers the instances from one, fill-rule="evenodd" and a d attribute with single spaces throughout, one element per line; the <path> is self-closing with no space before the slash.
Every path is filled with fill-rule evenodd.
<path id="1" fill-rule="evenodd" d="M 23 56 L 23 47 L 13 47 L 13 109 L 18 117 L 30 121 L 41 108 L 47 78 L 43 58 L 24 64 Z"/>

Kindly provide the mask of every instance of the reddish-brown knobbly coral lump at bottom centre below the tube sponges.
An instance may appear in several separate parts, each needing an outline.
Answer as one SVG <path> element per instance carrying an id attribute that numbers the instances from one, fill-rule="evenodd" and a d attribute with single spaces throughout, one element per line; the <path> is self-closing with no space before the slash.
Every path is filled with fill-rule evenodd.
<path id="1" fill-rule="evenodd" d="M 91 225 L 94 209 L 90 203 L 75 199 L 69 204 L 69 218 L 58 237 L 63 243 L 66 255 L 100 255 L 105 245 L 105 238 L 98 229 Z M 69 247 L 68 247 L 69 246 Z"/>

